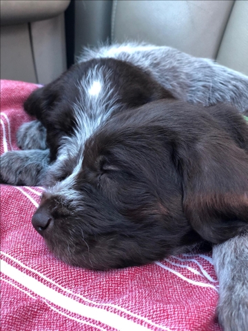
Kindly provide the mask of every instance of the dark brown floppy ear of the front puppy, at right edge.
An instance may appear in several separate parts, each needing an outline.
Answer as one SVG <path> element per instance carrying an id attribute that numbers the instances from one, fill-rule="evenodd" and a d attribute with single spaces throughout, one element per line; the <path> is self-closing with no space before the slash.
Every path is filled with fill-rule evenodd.
<path id="1" fill-rule="evenodd" d="M 177 151 L 185 216 L 211 243 L 248 229 L 248 152 L 220 134 Z"/>

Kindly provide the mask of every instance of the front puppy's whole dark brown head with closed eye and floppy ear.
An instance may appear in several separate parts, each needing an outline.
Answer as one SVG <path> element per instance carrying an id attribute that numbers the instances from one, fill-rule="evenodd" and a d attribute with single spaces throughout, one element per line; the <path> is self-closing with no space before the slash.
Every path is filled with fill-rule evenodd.
<path id="1" fill-rule="evenodd" d="M 222 123 L 225 111 L 159 101 L 116 114 L 88 139 L 83 164 L 45 192 L 34 227 L 57 257 L 94 269 L 247 229 L 247 124 L 234 110 Z"/>

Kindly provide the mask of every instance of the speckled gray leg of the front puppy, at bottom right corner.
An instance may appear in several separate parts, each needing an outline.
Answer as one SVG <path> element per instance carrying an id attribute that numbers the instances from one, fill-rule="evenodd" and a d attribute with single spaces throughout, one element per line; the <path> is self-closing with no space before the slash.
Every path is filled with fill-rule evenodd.
<path id="1" fill-rule="evenodd" d="M 225 331 L 248 330 L 248 232 L 214 246 L 220 283 L 218 319 Z"/>

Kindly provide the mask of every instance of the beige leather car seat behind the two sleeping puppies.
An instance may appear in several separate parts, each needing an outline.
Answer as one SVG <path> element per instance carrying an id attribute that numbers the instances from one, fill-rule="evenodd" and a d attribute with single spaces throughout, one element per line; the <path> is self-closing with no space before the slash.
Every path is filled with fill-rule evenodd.
<path id="1" fill-rule="evenodd" d="M 70 0 L 1 0 L 1 79 L 49 83 L 66 69 Z M 248 0 L 72 0 L 75 57 L 99 42 L 147 41 L 248 74 Z"/>

